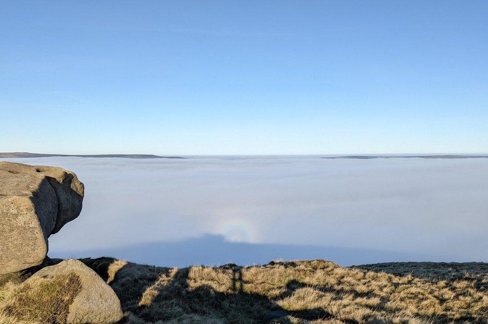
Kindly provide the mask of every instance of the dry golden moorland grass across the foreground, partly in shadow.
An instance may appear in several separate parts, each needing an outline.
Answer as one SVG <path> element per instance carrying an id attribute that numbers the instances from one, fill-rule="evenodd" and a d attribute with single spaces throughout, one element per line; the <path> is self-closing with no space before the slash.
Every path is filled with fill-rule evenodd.
<path id="1" fill-rule="evenodd" d="M 316 260 L 178 269 L 82 261 L 113 288 L 125 324 L 258 324 L 277 310 L 286 313 L 269 323 L 488 324 L 487 264 L 343 268 Z M 0 315 L 0 324 L 10 322 Z"/>

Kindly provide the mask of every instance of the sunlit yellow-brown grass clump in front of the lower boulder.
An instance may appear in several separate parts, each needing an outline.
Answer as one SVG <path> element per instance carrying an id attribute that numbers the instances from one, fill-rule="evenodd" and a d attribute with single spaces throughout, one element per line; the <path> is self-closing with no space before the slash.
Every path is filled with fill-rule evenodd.
<path id="1" fill-rule="evenodd" d="M 36 323 L 65 324 L 69 305 L 81 290 L 77 275 L 36 278 L 29 283 L 11 288 L 3 300 L 0 324 Z M 3 318 L 3 320 L 1 320 Z"/>

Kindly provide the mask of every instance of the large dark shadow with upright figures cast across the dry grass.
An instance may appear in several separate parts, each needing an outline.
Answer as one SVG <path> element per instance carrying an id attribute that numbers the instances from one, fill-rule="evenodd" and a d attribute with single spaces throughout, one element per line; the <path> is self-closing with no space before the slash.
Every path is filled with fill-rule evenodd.
<path id="1" fill-rule="evenodd" d="M 80 259 L 92 268 L 100 277 L 107 280 L 109 268 L 114 258 Z M 149 270 L 149 271 L 147 271 Z M 190 289 L 188 275 L 191 268 L 176 269 L 155 268 L 132 263 L 120 267 L 113 276 L 110 286 L 119 297 L 122 311 L 129 311 L 134 316 L 147 321 L 183 320 L 185 316 L 196 315 L 201 318 L 220 318 L 225 323 L 268 323 L 276 318 L 276 311 L 282 311 L 268 297 L 260 294 L 244 292 L 244 285 L 249 284 L 243 278 L 242 268 L 235 265 L 220 267 L 221 271 L 231 274 L 231 293 L 215 291 L 209 285 L 201 285 Z M 137 272 L 143 278 L 130 277 L 134 282 L 127 281 L 124 272 Z M 171 272 L 174 274 L 171 275 Z M 152 275 L 151 275 L 152 273 Z M 165 284 L 158 284 L 160 276 L 171 276 Z M 287 292 L 281 297 L 293 293 L 294 285 L 288 285 Z M 152 289 L 156 294 L 146 305 L 141 305 L 144 294 Z M 175 303 L 175 301 L 177 301 Z M 267 314 L 274 312 L 271 316 Z M 303 310 L 301 312 L 286 313 L 283 316 L 294 316 L 302 319 L 328 318 L 329 314 L 323 310 Z M 280 316 L 282 317 L 282 316 Z M 125 318 L 121 323 L 126 323 Z M 251 321 L 251 322 L 249 322 Z"/>

